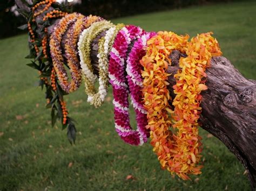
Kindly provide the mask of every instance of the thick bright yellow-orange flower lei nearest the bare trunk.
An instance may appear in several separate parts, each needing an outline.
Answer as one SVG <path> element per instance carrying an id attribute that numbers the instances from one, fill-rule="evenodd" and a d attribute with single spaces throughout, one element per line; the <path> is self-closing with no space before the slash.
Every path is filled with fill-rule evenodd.
<path id="1" fill-rule="evenodd" d="M 147 54 L 141 60 L 144 66 L 144 107 L 147 109 L 147 128 L 150 129 L 153 151 L 157 153 L 161 167 L 184 180 L 190 179 L 189 174 L 201 173 L 197 120 L 201 109 L 200 91 L 206 88 L 201 78 L 206 77 L 204 70 L 209 66 L 211 57 L 221 54 L 218 42 L 211 37 L 211 33 L 200 34 L 190 43 L 187 39 L 188 36 L 172 32 L 158 32 L 156 37 L 147 41 Z M 188 55 L 180 59 L 182 69 L 174 75 L 177 79 L 174 112 L 169 104 L 171 98 L 167 89 L 170 74 L 166 73 L 173 49 Z M 174 122 L 172 132 L 169 128 L 173 119 L 178 122 Z"/>

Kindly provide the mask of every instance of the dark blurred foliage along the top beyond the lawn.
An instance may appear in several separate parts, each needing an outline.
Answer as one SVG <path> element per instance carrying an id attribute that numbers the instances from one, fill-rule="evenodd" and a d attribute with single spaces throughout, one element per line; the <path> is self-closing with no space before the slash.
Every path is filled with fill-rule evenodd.
<path id="1" fill-rule="evenodd" d="M 60 1 L 60 0 L 59 0 Z M 73 11 L 83 15 L 98 15 L 106 19 L 137 15 L 160 10 L 180 9 L 191 5 L 225 3 L 241 0 L 80 0 L 74 4 Z M 60 1 L 61 2 L 61 1 Z M 62 0 L 63 2 L 63 0 Z M 14 36 L 23 31 L 17 29 L 25 20 L 17 16 L 15 0 L 0 1 L 0 38 Z"/>

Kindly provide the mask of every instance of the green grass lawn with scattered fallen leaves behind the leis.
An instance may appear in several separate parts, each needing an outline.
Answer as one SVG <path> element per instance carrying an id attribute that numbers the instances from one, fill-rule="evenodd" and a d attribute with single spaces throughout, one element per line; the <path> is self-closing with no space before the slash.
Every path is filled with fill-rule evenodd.
<path id="1" fill-rule="evenodd" d="M 148 31 L 213 31 L 234 66 L 256 79 L 256 3 L 192 7 L 113 20 Z M 0 40 L 0 190 L 250 190 L 244 167 L 217 138 L 200 129 L 203 174 L 193 181 L 160 169 L 149 143 L 125 144 L 114 130 L 111 90 L 102 108 L 86 103 L 83 86 L 66 97 L 77 121 L 71 146 L 58 123 L 51 128 L 44 91 L 36 87 L 26 35 Z M 132 117 L 134 126 L 134 116 Z M 228 127 L 227 127 L 228 128 Z M 132 179 L 126 180 L 127 175 Z"/>

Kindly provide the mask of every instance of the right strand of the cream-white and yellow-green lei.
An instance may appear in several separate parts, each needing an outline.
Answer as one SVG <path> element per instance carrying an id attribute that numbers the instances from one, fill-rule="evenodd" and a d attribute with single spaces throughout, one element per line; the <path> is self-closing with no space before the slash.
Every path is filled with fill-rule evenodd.
<path id="1" fill-rule="evenodd" d="M 92 96 L 92 104 L 98 107 L 103 104 L 107 95 L 109 86 L 109 53 L 111 51 L 114 38 L 117 32 L 124 27 L 124 24 L 118 24 L 106 31 L 105 37 L 102 37 L 98 43 L 98 62 L 99 62 L 99 90 Z"/>

